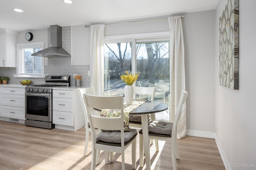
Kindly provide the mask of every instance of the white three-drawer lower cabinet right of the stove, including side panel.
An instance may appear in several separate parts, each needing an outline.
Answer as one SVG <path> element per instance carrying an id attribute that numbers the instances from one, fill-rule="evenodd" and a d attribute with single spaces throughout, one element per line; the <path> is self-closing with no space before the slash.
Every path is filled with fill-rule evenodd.
<path id="1" fill-rule="evenodd" d="M 77 131 L 85 126 L 78 89 L 52 90 L 52 121 L 56 129 Z"/>

